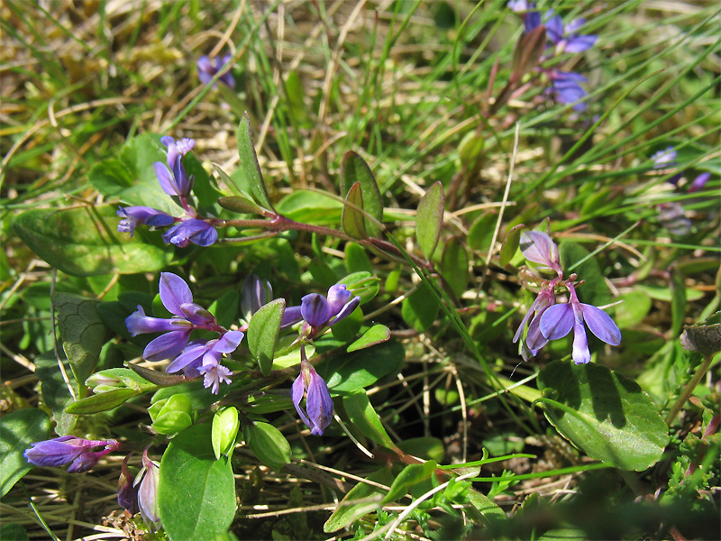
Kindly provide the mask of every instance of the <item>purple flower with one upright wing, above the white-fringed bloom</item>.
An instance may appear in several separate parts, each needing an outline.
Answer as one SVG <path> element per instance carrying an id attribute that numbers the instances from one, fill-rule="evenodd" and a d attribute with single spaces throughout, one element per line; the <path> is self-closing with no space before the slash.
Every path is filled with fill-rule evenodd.
<path id="1" fill-rule="evenodd" d="M 142 356 L 148 361 L 161 361 L 177 356 L 185 349 L 194 328 L 220 328 L 210 312 L 193 302 L 193 294 L 186 281 L 172 272 L 160 273 L 160 300 L 173 314 L 171 319 L 146 316 L 141 306 L 125 318 L 125 326 L 132 336 L 165 333 L 145 346 Z"/>

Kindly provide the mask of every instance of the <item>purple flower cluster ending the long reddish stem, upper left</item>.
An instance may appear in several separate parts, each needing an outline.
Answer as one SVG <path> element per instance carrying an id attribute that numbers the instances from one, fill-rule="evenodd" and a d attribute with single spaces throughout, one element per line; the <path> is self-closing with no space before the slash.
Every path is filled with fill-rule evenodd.
<path id="1" fill-rule="evenodd" d="M 117 215 L 121 218 L 118 231 L 129 233 L 132 236 L 137 225 L 151 227 L 168 227 L 170 225 L 162 235 L 166 244 L 175 244 L 181 248 L 189 243 L 210 246 L 218 240 L 218 232 L 213 225 L 200 219 L 195 207 L 190 206 L 189 197 L 194 179 L 192 175 L 188 177 L 183 165 L 183 157 L 192 150 L 196 142 L 193 139 L 176 141 L 168 136 L 161 137 L 160 142 L 168 149 L 167 160 L 166 163 L 162 161 L 153 163 L 155 175 L 160 183 L 160 188 L 178 201 L 185 214 L 176 218 L 150 206 L 120 207 L 117 211 Z"/>

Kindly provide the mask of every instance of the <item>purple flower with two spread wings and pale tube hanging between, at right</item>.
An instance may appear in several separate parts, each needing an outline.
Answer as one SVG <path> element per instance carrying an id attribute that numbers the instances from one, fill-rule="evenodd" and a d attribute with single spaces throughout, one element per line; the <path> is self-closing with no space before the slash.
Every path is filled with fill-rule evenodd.
<path id="1" fill-rule="evenodd" d="M 606 312 L 598 307 L 579 301 L 573 282 L 566 283 L 570 292 L 570 300 L 565 304 L 549 307 L 540 320 L 541 333 L 548 340 L 557 340 L 570 333 L 573 329 L 573 362 L 585 364 L 591 360 L 586 328 L 598 336 L 606 344 L 621 344 L 621 331 Z"/>

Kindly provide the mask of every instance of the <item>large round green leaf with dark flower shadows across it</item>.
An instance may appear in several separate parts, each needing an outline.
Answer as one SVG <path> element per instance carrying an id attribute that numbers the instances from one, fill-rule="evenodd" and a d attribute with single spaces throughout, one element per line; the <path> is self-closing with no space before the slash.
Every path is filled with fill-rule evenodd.
<path id="1" fill-rule="evenodd" d="M 635 381 L 598 364 L 555 361 L 538 374 L 538 388 L 545 417 L 589 456 L 637 472 L 661 459 L 668 426 Z"/>

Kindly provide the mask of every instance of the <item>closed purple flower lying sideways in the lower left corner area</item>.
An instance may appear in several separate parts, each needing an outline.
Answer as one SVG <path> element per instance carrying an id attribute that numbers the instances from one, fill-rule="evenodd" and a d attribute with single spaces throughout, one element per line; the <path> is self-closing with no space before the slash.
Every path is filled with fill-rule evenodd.
<path id="1" fill-rule="evenodd" d="M 93 452 L 96 447 L 105 447 Z M 87 440 L 76 436 L 61 436 L 36 442 L 23 453 L 29 463 L 36 466 L 64 466 L 70 464 L 68 472 L 87 472 L 105 454 L 117 451 L 120 444 L 114 439 Z"/>

